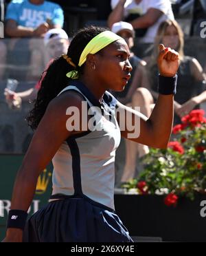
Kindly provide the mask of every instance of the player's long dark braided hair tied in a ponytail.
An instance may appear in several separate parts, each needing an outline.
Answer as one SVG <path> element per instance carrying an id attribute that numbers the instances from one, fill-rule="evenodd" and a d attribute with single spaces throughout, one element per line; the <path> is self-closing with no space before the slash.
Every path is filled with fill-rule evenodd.
<path id="1" fill-rule="evenodd" d="M 76 36 L 73 37 L 68 48 L 67 56 L 69 56 L 76 65 L 76 69 L 73 65 L 69 65 L 63 56 L 56 58 L 52 64 L 49 65 L 49 68 L 45 71 L 46 75 L 41 82 L 41 89 L 39 89 L 37 98 L 34 100 L 34 108 L 30 111 L 29 116 L 27 116 L 28 125 L 33 130 L 38 127 L 50 101 L 54 99 L 62 89 L 67 87 L 69 81 L 71 81 L 66 74 L 72 70 L 78 70 L 80 75 L 83 74 L 85 63 L 82 67 L 78 67 L 80 56 L 89 41 L 104 31 L 106 31 L 106 28 L 90 26 L 82 28 L 77 32 Z"/>

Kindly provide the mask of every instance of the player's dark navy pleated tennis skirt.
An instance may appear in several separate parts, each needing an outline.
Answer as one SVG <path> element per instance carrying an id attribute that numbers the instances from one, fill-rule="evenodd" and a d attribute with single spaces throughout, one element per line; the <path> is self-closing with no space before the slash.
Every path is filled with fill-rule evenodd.
<path id="1" fill-rule="evenodd" d="M 113 210 L 87 197 L 49 202 L 25 226 L 23 242 L 133 242 Z"/>

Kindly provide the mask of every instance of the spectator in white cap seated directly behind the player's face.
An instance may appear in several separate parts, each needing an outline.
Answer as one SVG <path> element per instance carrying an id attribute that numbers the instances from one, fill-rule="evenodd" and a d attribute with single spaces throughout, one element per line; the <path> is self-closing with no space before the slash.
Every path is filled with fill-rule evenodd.
<path id="1" fill-rule="evenodd" d="M 119 21 L 117 23 L 114 23 L 111 31 L 114 32 L 115 34 L 118 34 L 119 36 L 122 36 L 122 38 L 124 38 L 124 40 L 126 41 L 126 43 L 128 44 L 128 47 L 130 49 L 130 57 L 129 57 L 129 61 L 130 64 L 133 66 L 133 71 L 131 72 L 131 79 L 130 81 L 128 81 L 128 84 L 126 85 L 124 91 L 122 92 L 113 92 L 113 95 L 117 98 L 117 100 L 119 100 L 119 102 L 126 104 L 128 106 L 132 106 L 133 103 L 131 102 L 131 98 L 128 98 L 128 89 L 130 88 L 130 84 L 133 81 L 133 74 L 136 70 L 136 68 L 138 66 L 144 66 L 146 65 L 145 61 L 142 61 L 140 58 L 138 58 L 137 56 L 135 56 L 135 54 L 132 52 L 132 48 L 134 46 L 134 37 L 135 37 L 135 30 L 133 29 L 133 26 L 130 23 L 124 22 L 124 21 Z M 143 114 L 145 114 L 146 116 L 150 115 L 150 102 L 148 101 L 148 95 L 150 95 L 150 92 L 148 92 L 148 90 L 146 88 L 139 88 L 137 89 L 137 94 L 138 94 L 138 106 L 143 105 L 147 105 L 148 109 L 141 109 L 143 111 L 141 111 Z M 150 99 L 152 100 L 152 96 L 150 96 Z M 148 102 L 148 104 L 145 103 L 145 100 Z M 133 159 L 130 158 L 131 154 L 132 155 L 138 155 L 138 156 L 144 156 L 146 153 L 148 153 L 149 149 L 148 146 L 146 145 L 141 145 L 141 144 L 137 144 L 133 141 L 129 141 L 129 140 L 124 140 L 125 141 L 125 147 L 126 147 L 126 154 L 125 154 L 125 158 L 122 157 L 122 151 L 123 151 L 123 145 L 121 142 L 121 145 L 119 146 L 119 150 L 116 153 L 116 158 L 115 158 L 115 164 L 116 166 L 121 165 L 121 160 L 122 158 L 125 160 L 124 163 L 124 169 L 121 173 L 121 171 L 119 169 L 121 169 L 120 166 L 117 167 L 118 169 L 118 173 L 120 171 L 120 173 L 122 174 L 120 183 L 124 183 L 126 181 L 128 181 L 130 178 L 133 178 L 133 176 L 135 175 L 135 166 L 136 166 L 136 157 L 135 157 L 135 162 L 133 162 Z M 130 150 L 133 151 L 133 153 L 130 152 Z M 120 163 L 120 164 L 119 164 Z M 138 170 L 140 171 L 140 170 Z M 119 174 L 120 174 L 119 173 Z M 117 178 L 118 179 L 118 178 Z"/>

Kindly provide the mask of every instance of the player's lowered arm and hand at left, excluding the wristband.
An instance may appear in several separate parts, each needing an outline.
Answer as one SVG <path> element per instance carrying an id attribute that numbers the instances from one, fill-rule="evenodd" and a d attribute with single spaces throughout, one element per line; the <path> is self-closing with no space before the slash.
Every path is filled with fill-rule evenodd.
<path id="1" fill-rule="evenodd" d="M 52 160 L 62 142 L 73 134 L 73 131 L 68 131 L 66 128 L 69 118 L 66 115 L 67 108 L 75 106 L 81 109 L 81 102 L 82 98 L 78 94 L 65 92 L 49 103 L 16 175 L 11 209 L 21 211 L 29 209 L 36 190 L 38 175 Z M 3 242 L 21 242 L 22 235 L 21 229 L 8 228 Z"/>

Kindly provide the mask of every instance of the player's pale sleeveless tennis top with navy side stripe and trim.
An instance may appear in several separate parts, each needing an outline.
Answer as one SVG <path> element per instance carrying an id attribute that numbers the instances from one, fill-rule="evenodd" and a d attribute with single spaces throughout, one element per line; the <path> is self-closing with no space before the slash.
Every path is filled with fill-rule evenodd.
<path id="1" fill-rule="evenodd" d="M 83 193 L 91 200 L 114 207 L 115 151 L 119 146 L 121 134 L 115 118 L 117 100 L 105 92 L 102 104 L 89 89 L 79 81 L 73 81 L 62 92 L 75 90 L 82 94 L 90 107 L 99 107 L 104 113 L 111 113 L 111 120 L 104 118 L 100 111 L 95 115 L 101 130 L 84 132 L 71 136 L 63 142 L 52 162 L 52 195 L 73 195 Z M 62 94 L 60 92 L 60 94 Z"/>

